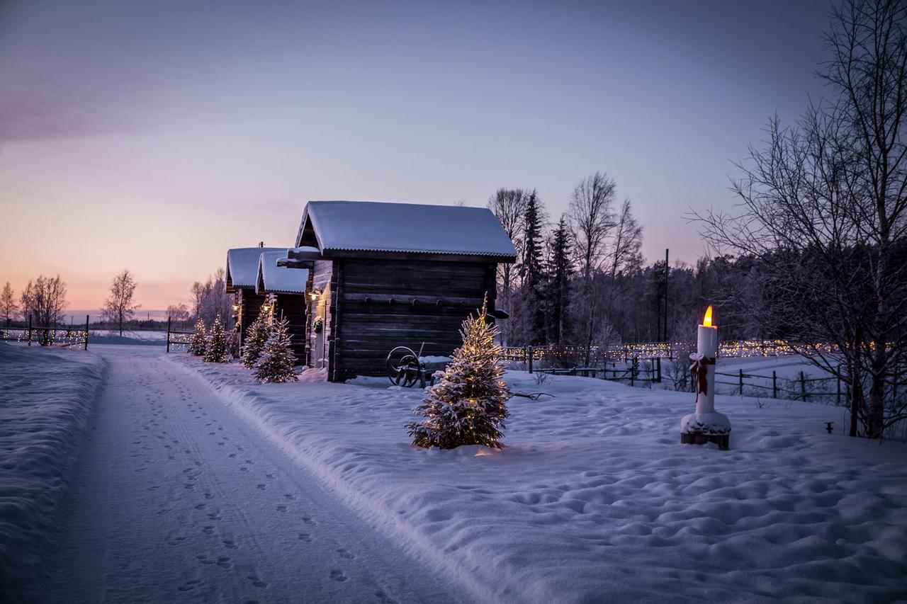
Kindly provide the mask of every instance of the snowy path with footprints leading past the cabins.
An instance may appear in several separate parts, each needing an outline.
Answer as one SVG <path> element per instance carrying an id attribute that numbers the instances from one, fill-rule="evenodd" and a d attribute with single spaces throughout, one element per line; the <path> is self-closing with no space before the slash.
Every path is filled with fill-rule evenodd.
<path id="1" fill-rule="evenodd" d="M 106 348 L 106 350 L 103 350 Z M 160 350 L 107 360 L 44 601 L 449 601 Z"/>

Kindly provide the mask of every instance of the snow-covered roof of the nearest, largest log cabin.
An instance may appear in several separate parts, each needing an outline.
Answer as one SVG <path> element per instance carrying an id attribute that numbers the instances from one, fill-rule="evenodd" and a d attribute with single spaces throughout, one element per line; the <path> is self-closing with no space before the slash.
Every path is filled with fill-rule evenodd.
<path id="1" fill-rule="evenodd" d="M 380 201 L 309 201 L 307 219 L 322 252 L 331 250 L 455 254 L 513 260 L 516 250 L 486 208 Z"/>

